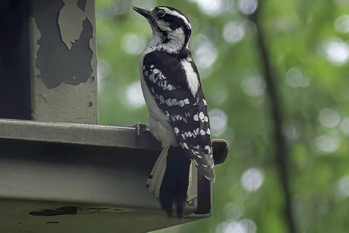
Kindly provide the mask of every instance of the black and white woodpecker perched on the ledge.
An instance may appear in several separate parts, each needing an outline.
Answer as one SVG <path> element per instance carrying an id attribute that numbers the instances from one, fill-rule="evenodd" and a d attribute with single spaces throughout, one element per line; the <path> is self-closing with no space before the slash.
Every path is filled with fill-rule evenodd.
<path id="1" fill-rule="evenodd" d="M 188 48 L 191 24 L 172 7 L 133 9 L 153 30 L 140 60 L 141 87 L 149 110 L 148 129 L 163 150 L 150 173 L 149 191 L 159 196 L 170 146 L 181 146 L 198 174 L 214 182 L 207 103 Z"/>

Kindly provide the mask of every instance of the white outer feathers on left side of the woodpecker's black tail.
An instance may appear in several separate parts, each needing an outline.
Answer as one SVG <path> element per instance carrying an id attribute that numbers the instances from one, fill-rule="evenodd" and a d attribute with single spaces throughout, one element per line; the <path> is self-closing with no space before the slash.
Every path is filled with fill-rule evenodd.
<path id="1" fill-rule="evenodd" d="M 156 197 L 159 197 L 160 194 L 161 183 L 166 171 L 166 158 L 169 148 L 170 146 L 163 148 L 158 159 L 156 160 L 153 170 L 150 172 L 149 179 L 147 181 L 149 192 L 155 191 Z"/>

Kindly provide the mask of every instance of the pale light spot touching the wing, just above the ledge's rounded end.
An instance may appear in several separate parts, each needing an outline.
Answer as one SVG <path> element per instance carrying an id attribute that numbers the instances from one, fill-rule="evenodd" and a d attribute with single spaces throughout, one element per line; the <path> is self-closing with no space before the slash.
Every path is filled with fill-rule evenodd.
<path id="1" fill-rule="evenodd" d="M 212 135 L 218 136 L 227 129 L 228 117 L 225 112 L 218 108 L 214 108 L 208 113 L 208 116 L 210 118 L 210 129 Z"/>

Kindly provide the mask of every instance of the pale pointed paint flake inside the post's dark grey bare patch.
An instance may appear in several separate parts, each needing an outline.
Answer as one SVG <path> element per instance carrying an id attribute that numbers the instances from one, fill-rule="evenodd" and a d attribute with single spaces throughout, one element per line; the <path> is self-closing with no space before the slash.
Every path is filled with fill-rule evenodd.
<path id="1" fill-rule="evenodd" d="M 59 11 L 58 25 L 62 41 L 68 50 L 72 48 L 75 41 L 80 39 L 82 21 L 86 19 L 86 13 L 77 6 L 79 0 L 62 0 L 64 6 Z"/>

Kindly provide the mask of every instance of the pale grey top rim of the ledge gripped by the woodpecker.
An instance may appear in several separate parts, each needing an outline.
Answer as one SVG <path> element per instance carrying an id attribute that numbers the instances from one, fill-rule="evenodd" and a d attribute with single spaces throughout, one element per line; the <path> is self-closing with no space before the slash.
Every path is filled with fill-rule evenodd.
<path id="1" fill-rule="evenodd" d="M 161 143 L 150 132 L 138 137 L 134 127 L 0 119 L 0 138 L 161 150 Z M 212 140 L 212 147 L 215 164 L 222 164 L 227 158 L 228 142 Z"/>

